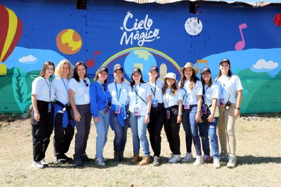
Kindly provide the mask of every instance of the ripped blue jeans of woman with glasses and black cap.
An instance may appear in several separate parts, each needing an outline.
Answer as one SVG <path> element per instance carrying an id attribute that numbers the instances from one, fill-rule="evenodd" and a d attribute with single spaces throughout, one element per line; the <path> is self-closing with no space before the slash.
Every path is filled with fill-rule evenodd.
<path id="1" fill-rule="evenodd" d="M 199 123 L 199 134 L 202 141 L 202 148 L 205 155 L 210 156 L 209 135 L 212 146 L 213 158 L 219 158 L 219 142 L 217 140 L 217 117 L 208 124 Z"/>

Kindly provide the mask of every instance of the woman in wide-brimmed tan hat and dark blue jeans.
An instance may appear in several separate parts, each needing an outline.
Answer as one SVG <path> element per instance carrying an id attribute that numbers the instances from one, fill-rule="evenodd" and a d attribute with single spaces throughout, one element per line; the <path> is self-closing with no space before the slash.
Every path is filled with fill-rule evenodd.
<path id="1" fill-rule="evenodd" d="M 182 159 L 184 162 L 193 161 L 191 153 L 192 140 L 196 150 L 196 161 L 193 165 L 204 163 L 201 153 L 201 143 L 198 134 L 198 122 L 201 120 L 201 105 L 203 86 L 196 74 L 198 70 L 193 64 L 188 62 L 179 69 L 182 77 L 179 82 L 183 96 L 183 127 L 185 131 L 186 156 Z"/>

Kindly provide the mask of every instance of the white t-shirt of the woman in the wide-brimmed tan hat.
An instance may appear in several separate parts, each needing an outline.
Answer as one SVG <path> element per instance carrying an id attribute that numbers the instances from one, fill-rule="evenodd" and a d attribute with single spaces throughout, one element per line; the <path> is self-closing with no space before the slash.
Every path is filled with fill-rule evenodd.
<path id="1" fill-rule="evenodd" d="M 195 87 L 193 88 L 193 90 L 189 89 L 189 83 L 190 83 L 190 81 L 185 80 L 184 87 L 181 89 L 183 102 L 189 101 L 190 105 L 197 105 L 197 96 L 203 95 L 202 83 L 201 83 L 201 81 L 196 81 Z M 179 86 L 181 86 L 180 83 L 179 83 Z"/>

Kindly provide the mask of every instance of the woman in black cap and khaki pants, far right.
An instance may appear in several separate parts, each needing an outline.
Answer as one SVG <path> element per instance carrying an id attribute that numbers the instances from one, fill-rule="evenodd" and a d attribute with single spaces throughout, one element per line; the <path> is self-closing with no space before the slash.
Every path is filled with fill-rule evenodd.
<path id="1" fill-rule="evenodd" d="M 240 106 L 242 101 L 242 84 L 237 75 L 232 74 L 230 70 L 230 61 L 224 58 L 220 61 L 219 75 L 215 79 L 215 84 L 219 87 L 219 120 L 217 129 L 220 139 L 221 160 L 228 158 L 227 142 L 229 146 L 228 168 L 236 166 L 236 138 L 234 133 L 234 125 L 236 118 L 240 115 Z M 235 98 L 237 94 L 237 100 Z"/>

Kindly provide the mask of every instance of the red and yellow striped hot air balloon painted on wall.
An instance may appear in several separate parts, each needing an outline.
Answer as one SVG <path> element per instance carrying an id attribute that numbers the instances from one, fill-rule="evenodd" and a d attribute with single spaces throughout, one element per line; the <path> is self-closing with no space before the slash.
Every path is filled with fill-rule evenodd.
<path id="1" fill-rule="evenodd" d="M 23 31 L 20 18 L 9 8 L 0 4 L 0 62 L 10 56 L 18 43 Z M 0 75 L 5 75 L 7 68 L 0 64 Z"/>

